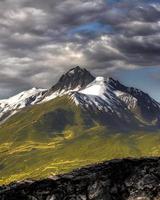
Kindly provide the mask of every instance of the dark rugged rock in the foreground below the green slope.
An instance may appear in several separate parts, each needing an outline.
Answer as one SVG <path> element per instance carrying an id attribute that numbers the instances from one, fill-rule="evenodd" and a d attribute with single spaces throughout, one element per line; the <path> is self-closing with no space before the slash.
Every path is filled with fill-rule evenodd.
<path id="1" fill-rule="evenodd" d="M 160 158 L 122 159 L 0 187 L 1 200 L 159 200 Z"/>

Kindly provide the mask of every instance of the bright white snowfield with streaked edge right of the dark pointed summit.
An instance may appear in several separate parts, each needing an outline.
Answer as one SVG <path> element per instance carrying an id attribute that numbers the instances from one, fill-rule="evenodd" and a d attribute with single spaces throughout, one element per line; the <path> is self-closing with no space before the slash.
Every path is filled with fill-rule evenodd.
<path id="1" fill-rule="evenodd" d="M 104 112 L 118 112 L 122 107 L 122 101 L 114 94 L 109 84 L 109 79 L 97 77 L 88 84 L 85 89 L 70 93 L 71 99 L 76 105 Z"/>

